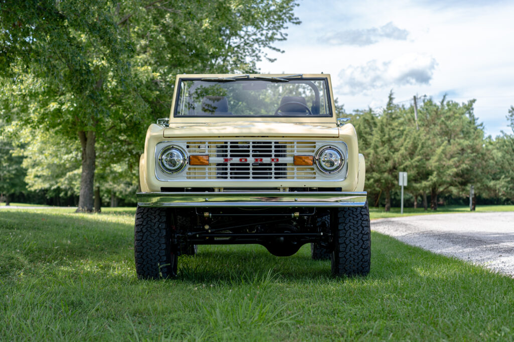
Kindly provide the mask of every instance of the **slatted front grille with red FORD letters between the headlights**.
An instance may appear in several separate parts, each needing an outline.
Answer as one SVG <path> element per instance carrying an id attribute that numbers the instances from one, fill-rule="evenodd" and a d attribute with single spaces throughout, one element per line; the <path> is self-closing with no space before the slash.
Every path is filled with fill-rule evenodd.
<path id="1" fill-rule="evenodd" d="M 314 155 L 316 142 L 190 141 L 191 155 L 209 155 L 209 165 L 189 166 L 187 179 L 316 179 L 314 166 L 295 166 L 294 155 Z"/>

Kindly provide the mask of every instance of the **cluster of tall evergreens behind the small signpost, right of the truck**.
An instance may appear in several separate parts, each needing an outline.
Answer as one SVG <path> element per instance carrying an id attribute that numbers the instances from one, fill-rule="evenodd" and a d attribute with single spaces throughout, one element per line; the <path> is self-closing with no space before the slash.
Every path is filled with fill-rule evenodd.
<path id="1" fill-rule="evenodd" d="M 406 190 L 416 198 L 429 193 L 437 209 L 439 194 L 466 196 L 469 185 L 483 182 L 486 165 L 483 125 L 473 114 L 474 100 L 465 104 L 424 99 L 418 110 L 394 104 L 392 92 L 381 113 L 355 111 L 352 123 L 359 149 L 366 157 L 366 183 L 377 206 L 380 197 L 390 208 L 391 191 L 398 189 L 398 172 L 407 171 Z"/>

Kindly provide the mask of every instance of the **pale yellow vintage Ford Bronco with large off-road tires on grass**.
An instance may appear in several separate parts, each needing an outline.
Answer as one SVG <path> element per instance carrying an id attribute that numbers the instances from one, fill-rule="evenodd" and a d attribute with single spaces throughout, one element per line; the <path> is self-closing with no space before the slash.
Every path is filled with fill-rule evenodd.
<path id="1" fill-rule="evenodd" d="M 368 274 L 364 156 L 343 121 L 327 74 L 177 75 L 139 164 L 138 277 L 173 277 L 206 244 L 310 243 L 334 275 Z"/>

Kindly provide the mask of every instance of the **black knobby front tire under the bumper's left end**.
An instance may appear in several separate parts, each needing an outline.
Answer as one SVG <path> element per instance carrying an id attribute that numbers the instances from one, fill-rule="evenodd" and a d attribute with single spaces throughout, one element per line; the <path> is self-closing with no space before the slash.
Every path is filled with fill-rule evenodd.
<path id="1" fill-rule="evenodd" d="M 177 253 L 173 247 L 166 210 L 138 207 L 134 228 L 137 277 L 139 279 L 175 277 Z"/>

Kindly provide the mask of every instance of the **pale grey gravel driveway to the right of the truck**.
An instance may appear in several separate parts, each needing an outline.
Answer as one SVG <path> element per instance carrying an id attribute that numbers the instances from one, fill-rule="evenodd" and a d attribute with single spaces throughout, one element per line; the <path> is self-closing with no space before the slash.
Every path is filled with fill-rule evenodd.
<path id="1" fill-rule="evenodd" d="M 514 212 L 381 218 L 371 222 L 371 229 L 514 276 Z"/>

